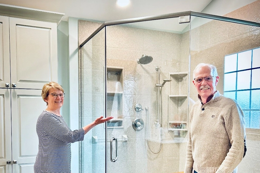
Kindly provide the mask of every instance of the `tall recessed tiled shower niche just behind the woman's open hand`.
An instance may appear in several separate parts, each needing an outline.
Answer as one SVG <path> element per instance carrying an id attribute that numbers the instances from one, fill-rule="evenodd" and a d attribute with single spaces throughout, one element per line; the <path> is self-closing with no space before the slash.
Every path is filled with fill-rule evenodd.
<path id="1" fill-rule="evenodd" d="M 124 68 L 107 67 L 107 128 L 123 128 L 124 112 Z"/>

